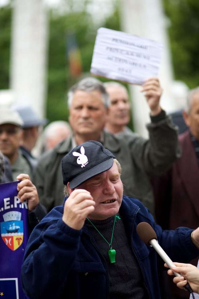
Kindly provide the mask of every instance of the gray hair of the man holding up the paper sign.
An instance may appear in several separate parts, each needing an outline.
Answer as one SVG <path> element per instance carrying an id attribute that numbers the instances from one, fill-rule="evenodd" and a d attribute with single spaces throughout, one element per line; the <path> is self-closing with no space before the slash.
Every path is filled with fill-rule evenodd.
<path id="1" fill-rule="evenodd" d="M 102 94 L 102 101 L 106 109 L 110 106 L 110 99 L 109 96 L 103 86 L 103 83 L 92 77 L 84 78 L 81 81 L 77 82 L 75 85 L 73 85 L 69 91 L 68 91 L 68 107 L 71 107 L 72 100 L 74 93 L 77 90 L 83 90 L 87 92 L 91 92 L 92 90 L 98 90 Z"/>

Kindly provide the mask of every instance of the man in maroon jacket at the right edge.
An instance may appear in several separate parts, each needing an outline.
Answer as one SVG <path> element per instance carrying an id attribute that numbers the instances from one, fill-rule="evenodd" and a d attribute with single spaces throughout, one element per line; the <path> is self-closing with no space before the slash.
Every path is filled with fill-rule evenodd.
<path id="1" fill-rule="evenodd" d="M 167 173 L 152 178 L 156 221 L 164 229 L 199 224 L 199 87 L 190 90 L 183 117 L 188 129 L 178 137 L 181 158 Z M 172 298 L 189 298 L 182 294 Z"/>

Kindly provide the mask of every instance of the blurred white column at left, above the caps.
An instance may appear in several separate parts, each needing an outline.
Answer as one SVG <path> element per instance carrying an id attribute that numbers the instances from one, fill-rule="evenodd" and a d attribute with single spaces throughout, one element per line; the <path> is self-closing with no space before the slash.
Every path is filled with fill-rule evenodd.
<path id="1" fill-rule="evenodd" d="M 10 89 L 45 116 L 47 94 L 47 13 L 43 0 L 14 0 Z"/>

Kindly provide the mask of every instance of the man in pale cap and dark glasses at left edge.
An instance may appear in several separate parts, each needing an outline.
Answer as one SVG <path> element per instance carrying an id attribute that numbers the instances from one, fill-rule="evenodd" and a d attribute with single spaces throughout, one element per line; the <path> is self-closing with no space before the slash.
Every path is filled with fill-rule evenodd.
<path id="1" fill-rule="evenodd" d="M 10 161 L 13 180 L 21 173 L 32 178 L 31 166 L 19 150 L 22 126 L 23 120 L 16 111 L 0 109 L 0 150 Z"/>

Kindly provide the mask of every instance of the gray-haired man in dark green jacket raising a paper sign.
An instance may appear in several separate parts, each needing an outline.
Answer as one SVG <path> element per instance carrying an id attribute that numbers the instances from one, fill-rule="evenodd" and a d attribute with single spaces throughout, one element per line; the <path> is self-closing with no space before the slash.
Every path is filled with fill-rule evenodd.
<path id="1" fill-rule="evenodd" d="M 116 137 L 104 130 L 110 99 L 103 83 L 96 78 L 85 78 L 71 87 L 68 93 L 69 122 L 72 134 L 54 149 L 39 158 L 33 181 L 39 199 L 50 211 L 62 203 L 63 183 L 61 162 L 76 145 L 96 140 L 110 150 L 120 162 L 124 194 L 137 197 L 154 212 L 149 174 L 161 174 L 180 156 L 177 128 L 161 109 L 162 89 L 157 78 L 146 80 L 142 86 L 150 108 L 151 124 L 147 125 L 150 139 L 137 134 Z"/>

